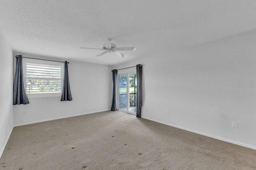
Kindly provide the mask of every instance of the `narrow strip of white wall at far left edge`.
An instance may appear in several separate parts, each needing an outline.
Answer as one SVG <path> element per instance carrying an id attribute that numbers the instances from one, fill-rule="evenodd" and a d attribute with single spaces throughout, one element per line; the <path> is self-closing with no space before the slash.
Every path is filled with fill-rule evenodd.
<path id="1" fill-rule="evenodd" d="M 13 128 L 12 49 L 0 30 L 0 158 Z"/>

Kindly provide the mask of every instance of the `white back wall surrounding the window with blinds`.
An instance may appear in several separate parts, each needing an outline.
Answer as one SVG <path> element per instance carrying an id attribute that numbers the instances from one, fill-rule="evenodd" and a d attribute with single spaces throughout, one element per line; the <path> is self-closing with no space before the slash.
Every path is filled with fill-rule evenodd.
<path id="1" fill-rule="evenodd" d="M 63 61 L 22 53 L 14 53 L 15 55 Z M 101 64 L 68 61 L 70 62 L 68 73 L 73 100 L 60 102 L 60 97 L 29 98 L 30 104 L 14 106 L 15 126 L 110 109 L 111 69 L 106 69 L 106 65 Z M 28 114 L 24 114 L 23 111 L 28 111 Z"/>

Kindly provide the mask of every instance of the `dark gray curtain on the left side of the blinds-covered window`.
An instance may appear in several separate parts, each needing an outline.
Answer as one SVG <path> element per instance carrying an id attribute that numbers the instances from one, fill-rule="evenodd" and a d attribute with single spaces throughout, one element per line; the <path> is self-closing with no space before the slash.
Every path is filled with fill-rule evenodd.
<path id="1" fill-rule="evenodd" d="M 16 56 L 16 70 L 13 82 L 13 97 L 12 104 L 29 104 L 28 96 L 26 94 L 26 87 L 23 81 L 22 72 L 22 55 Z"/>

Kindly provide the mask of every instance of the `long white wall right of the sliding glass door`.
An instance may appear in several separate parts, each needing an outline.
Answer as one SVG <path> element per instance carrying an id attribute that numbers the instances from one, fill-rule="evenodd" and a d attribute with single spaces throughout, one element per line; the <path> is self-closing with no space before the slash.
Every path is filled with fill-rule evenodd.
<path id="1" fill-rule="evenodd" d="M 232 87 L 256 83 L 256 30 L 158 49 L 114 69 L 136 64 L 143 64 L 142 117 L 256 149 L 256 87 Z"/>

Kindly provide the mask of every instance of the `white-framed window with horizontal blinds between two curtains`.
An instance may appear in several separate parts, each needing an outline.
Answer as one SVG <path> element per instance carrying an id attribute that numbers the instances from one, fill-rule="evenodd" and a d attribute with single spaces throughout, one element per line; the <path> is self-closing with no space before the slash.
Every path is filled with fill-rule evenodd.
<path id="1" fill-rule="evenodd" d="M 61 96 L 64 63 L 23 59 L 24 84 L 28 97 Z"/>

